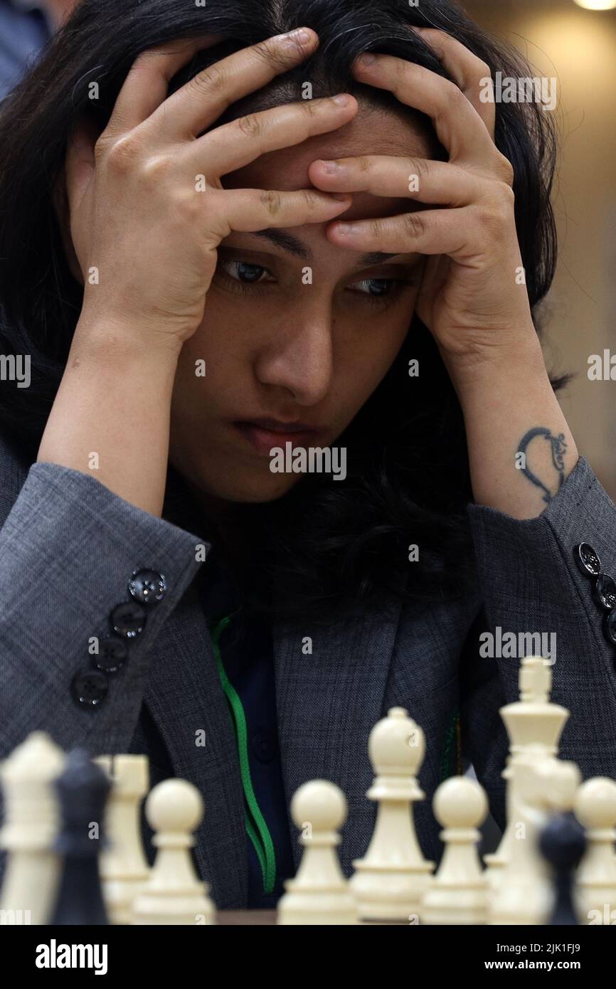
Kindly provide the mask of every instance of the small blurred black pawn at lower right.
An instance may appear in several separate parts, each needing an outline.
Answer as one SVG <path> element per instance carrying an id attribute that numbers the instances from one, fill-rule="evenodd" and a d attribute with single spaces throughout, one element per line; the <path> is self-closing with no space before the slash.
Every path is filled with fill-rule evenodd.
<path id="1" fill-rule="evenodd" d="M 573 876 L 586 848 L 584 829 L 571 813 L 555 814 L 541 833 L 539 848 L 554 869 L 556 897 L 548 925 L 579 925 L 573 906 Z"/>

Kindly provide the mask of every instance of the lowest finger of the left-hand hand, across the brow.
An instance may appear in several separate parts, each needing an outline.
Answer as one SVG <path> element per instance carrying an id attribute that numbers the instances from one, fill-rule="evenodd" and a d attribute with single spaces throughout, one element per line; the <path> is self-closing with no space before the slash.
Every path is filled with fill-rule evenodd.
<path id="1" fill-rule="evenodd" d="M 317 189 L 279 192 L 263 189 L 232 189 L 224 193 L 223 220 L 215 235 L 220 239 L 231 230 L 254 232 L 271 226 L 324 224 L 348 210 L 352 197 L 344 200 Z"/>

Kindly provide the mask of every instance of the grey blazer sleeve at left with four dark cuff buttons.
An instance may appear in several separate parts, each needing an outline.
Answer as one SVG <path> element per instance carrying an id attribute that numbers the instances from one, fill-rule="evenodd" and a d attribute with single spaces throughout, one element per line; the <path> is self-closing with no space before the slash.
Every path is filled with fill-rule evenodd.
<path id="1" fill-rule="evenodd" d="M 150 646 L 202 565 L 198 545 L 198 536 L 90 475 L 30 467 L 0 529 L 0 758 L 34 730 L 63 749 L 129 751 Z M 132 595 L 129 582 L 139 571 L 162 575 L 160 600 L 145 605 Z M 141 604 L 142 631 L 120 637 L 128 658 L 116 673 L 101 674 L 91 640 L 116 635 L 111 615 L 124 602 Z M 107 684 L 95 706 L 79 702 L 83 681 L 75 680 L 92 670 L 99 692 Z"/>

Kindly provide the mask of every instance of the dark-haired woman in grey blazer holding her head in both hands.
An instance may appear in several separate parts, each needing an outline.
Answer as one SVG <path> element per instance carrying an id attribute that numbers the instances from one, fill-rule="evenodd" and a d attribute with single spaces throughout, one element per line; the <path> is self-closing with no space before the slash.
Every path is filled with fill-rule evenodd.
<path id="1" fill-rule="evenodd" d="M 442 0 L 84 0 L 3 109 L 3 352 L 32 381 L 2 386 L 2 751 L 44 729 L 193 780 L 220 907 L 276 902 L 309 778 L 345 791 L 350 871 L 393 705 L 426 796 L 470 760 L 502 824 L 498 628 L 557 635 L 562 753 L 615 774 L 574 553 L 614 566 L 616 509 L 535 324 L 554 133 L 485 99 L 496 70 L 528 74 Z"/>

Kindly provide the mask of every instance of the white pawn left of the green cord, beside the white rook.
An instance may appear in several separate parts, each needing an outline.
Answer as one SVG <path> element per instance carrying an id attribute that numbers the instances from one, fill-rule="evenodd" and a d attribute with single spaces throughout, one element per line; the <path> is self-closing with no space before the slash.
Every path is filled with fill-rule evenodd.
<path id="1" fill-rule="evenodd" d="M 190 852 L 203 813 L 201 794 L 186 779 L 165 779 L 150 791 L 145 816 L 158 853 L 133 901 L 132 924 L 216 923 L 210 887 L 200 881 Z"/>

